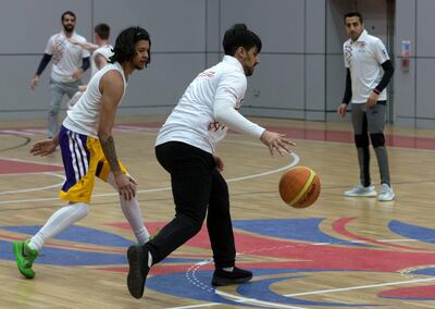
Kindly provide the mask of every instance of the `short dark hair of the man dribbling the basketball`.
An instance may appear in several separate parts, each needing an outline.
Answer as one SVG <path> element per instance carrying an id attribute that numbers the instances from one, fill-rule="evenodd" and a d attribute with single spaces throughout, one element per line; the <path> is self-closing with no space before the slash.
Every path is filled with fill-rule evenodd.
<path id="1" fill-rule="evenodd" d="M 249 30 L 245 24 L 235 24 L 227 29 L 222 41 L 225 54 L 234 55 L 237 48 L 243 47 L 246 50 L 252 47 L 261 51 L 261 39 L 253 32 Z"/>

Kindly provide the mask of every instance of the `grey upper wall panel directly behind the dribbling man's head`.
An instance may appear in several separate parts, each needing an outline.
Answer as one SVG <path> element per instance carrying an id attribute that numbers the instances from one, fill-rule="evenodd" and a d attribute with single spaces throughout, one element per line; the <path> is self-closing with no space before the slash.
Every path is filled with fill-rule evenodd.
<path id="1" fill-rule="evenodd" d="M 221 0 L 221 33 L 246 23 L 260 36 L 264 52 L 303 52 L 303 0 Z"/>

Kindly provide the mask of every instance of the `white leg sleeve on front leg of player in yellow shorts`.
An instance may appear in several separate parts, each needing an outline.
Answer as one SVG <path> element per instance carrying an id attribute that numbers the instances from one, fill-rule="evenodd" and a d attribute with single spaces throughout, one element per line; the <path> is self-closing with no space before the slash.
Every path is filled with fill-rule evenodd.
<path id="1" fill-rule="evenodd" d="M 113 174 L 110 173 L 108 177 L 108 183 L 117 189 Z M 144 225 L 142 213 L 139 208 L 139 201 L 137 196 L 130 200 L 126 200 L 123 196 L 120 196 L 121 208 L 127 219 L 129 226 L 132 226 L 133 233 L 135 233 L 137 243 L 141 246 L 149 240 L 149 233 L 147 227 Z"/>

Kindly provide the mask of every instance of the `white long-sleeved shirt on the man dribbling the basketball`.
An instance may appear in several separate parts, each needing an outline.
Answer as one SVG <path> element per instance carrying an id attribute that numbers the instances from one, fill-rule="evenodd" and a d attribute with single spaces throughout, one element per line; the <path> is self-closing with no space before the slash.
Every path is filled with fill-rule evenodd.
<path id="1" fill-rule="evenodd" d="M 238 110 L 247 87 L 240 62 L 225 55 L 200 73 L 188 86 L 161 127 L 156 146 L 182 141 L 213 153 L 229 128 L 260 137 L 264 128 L 241 116 Z M 229 108 L 229 109 L 228 109 Z M 216 121 L 216 115 L 227 123 Z"/>

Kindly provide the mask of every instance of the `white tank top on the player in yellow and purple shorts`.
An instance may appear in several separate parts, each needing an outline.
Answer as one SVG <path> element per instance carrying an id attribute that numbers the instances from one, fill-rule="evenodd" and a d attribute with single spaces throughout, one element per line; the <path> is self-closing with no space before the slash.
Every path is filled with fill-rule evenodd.
<path id="1" fill-rule="evenodd" d="M 77 103 L 66 112 L 67 115 L 63 121 L 63 126 L 76 133 L 98 138 L 101 104 L 100 79 L 107 72 L 113 70 L 120 72 L 124 81 L 124 92 L 121 101 L 123 100 L 127 88 L 124 71 L 117 62 L 108 64 L 94 75 Z"/>

